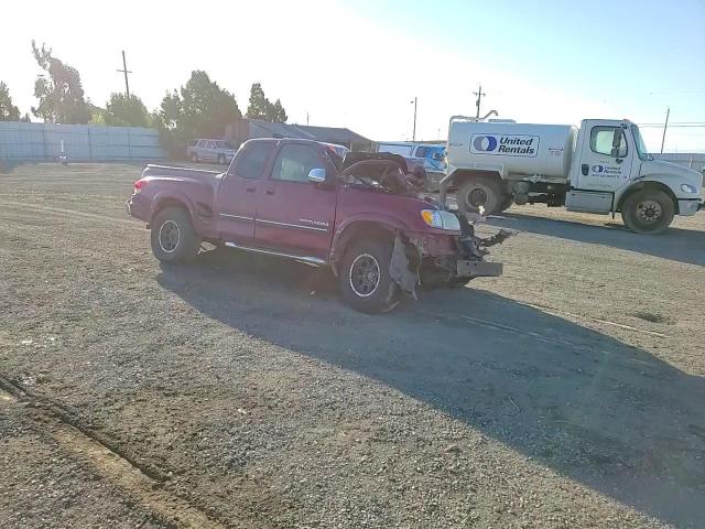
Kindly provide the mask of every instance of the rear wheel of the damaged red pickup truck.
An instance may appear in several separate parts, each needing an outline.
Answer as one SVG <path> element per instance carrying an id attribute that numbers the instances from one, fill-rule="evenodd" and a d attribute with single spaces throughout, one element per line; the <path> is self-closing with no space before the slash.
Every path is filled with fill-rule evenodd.
<path id="1" fill-rule="evenodd" d="M 200 238 L 191 224 L 191 215 L 183 207 L 165 207 L 152 220 L 152 252 L 160 261 L 180 264 L 198 255 Z"/>

